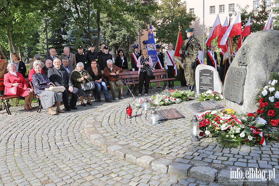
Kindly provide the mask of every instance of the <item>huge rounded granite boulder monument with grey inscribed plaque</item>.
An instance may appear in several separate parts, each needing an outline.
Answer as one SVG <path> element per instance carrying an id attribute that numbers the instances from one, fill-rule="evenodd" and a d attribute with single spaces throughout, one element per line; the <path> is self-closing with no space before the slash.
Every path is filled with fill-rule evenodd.
<path id="1" fill-rule="evenodd" d="M 279 71 L 279 32 L 251 33 L 237 51 L 225 77 L 225 106 L 245 113 L 257 110 L 256 98 L 268 84 L 271 72 Z"/>

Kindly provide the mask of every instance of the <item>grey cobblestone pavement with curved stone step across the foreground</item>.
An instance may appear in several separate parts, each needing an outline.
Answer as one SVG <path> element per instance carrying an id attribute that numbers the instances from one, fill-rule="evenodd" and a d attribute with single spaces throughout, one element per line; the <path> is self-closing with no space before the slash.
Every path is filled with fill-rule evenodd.
<path id="1" fill-rule="evenodd" d="M 249 179 L 229 182 L 229 170 L 248 167 L 275 168 L 276 176 L 247 185 L 279 185 L 279 143 L 223 148 L 215 139 L 191 142 L 189 104 L 195 100 L 157 107 L 176 108 L 185 118 L 151 125 L 150 111 L 142 108 L 132 107 L 137 117 L 126 118 L 133 98 L 124 97 L 57 116 L 46 109 L 1 111 L 0 185 L 243 185 Z"/>

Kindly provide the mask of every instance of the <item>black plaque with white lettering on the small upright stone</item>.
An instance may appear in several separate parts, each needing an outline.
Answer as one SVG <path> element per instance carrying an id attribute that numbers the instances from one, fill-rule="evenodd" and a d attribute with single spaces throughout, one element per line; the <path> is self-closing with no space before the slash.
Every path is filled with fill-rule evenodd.
<path id="1" fill-rule="evenodd" d="M 213 71 L 209 69 L 200 70 L 200 82 L 199 82 L 199 93 L 206 92 L 208 90 L 214 91 L 214 79 Z"/>

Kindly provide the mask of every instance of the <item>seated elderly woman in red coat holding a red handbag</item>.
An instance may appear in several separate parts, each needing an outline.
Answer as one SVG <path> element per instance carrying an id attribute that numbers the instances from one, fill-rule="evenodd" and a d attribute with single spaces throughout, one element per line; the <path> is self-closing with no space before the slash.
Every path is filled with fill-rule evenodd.
<path id="1" fill-rule="evenodd" d="M 31 106 L 33 99 L 33 90 L 28 88 L 28 85 L 21 73 L 15 72 L 16 65 L 14 63 L 8 64 L 8 73 L 4 75 L 4 85 L 6 87 L 18 86 L 18 95 L 24 97 L 25 110 L 34 110 Z"/>

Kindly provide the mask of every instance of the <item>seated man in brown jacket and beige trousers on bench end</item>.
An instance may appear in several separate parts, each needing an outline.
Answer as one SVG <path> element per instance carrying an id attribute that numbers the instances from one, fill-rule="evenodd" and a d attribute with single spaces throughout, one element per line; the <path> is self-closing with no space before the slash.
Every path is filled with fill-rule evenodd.
<path id="1" fill-rule="evenodd" d="M 124 99 L 122 93 L 123 93 L 123 88 L 124 88 L 124 84 L 122 83 L 122 81 L 120 81 L 119 78 L 119 73 L 123 72 L 123 69 L 113 65 L 113 61 L 112 60 L 107 60 L 107 67 L 104 68 L 104 78 L 106 78 L 106 80 L 108 81 L 108 84 L 110 85 L 110 90 L 111 90 L 111 94 L 113 96 L 113 100 L 119 100 L 120 99 Z M 116 85 L 119 86 L 119 90 L 118 90 L 118 97 L 116 97 Z"/>

